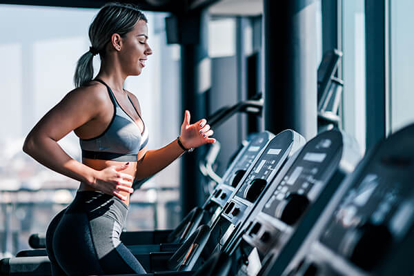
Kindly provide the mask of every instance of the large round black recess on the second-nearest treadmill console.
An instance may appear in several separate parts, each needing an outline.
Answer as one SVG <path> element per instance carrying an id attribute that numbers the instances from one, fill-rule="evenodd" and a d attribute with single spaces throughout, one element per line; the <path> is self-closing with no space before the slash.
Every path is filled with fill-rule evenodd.
<path id="1" fill-rule="evenodd" d="M 305 195 L 291 193 L 276 208 L 275 215 L 288 225 L 293 225 L 302 216 L 309 205 Z"/>

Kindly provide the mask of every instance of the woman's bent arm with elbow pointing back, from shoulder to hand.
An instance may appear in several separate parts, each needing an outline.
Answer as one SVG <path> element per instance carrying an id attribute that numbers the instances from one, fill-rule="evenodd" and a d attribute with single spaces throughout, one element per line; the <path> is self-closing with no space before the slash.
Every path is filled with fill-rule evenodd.
<path id="1" fill-rule="evenodd" d="M 56 172 L 98 188 L 103 193 L 119 195 L 119 191 L 132 193 L 132 177 L 121 173 L 126 168 L 111 166 L 94 170 L 72 159 L 57 144 L 69 132 L 99 117 L 107 102 L 106 94 L 99 85 L 78 88 L 69 92 L 30 131 L 23 144 L 23 151 Z M 105 91 L 106 92 L 106 91 Z"/>

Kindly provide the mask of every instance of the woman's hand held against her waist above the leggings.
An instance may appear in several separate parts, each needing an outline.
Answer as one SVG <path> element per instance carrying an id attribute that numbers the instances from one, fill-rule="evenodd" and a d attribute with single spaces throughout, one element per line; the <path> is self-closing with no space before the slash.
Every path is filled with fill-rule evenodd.
<path id="1" fill-rule="evenodd" d="M 128 168 L 128 165 L 129 162 L 99 170 L 93 185 L 94 188 L 108 195 L 115 195 L 121 200 L 126 200 L 126 196 L 121 195 L 120 192 L 134 192 L 134 189 L 132 189 L 132 176 L 121 172 L 121 170 Z"/>

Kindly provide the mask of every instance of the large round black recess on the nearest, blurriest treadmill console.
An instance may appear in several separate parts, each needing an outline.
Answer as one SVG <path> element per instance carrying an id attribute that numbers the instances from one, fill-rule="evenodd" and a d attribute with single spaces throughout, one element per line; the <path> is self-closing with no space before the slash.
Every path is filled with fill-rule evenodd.
<path id="1" fill-rule="evenodd" d="M 366 224 L 348 230 L 341 242 L 342 254 L 364 270 L 371 270 L 391 244 L 392 235 L 383 224 Z"/>

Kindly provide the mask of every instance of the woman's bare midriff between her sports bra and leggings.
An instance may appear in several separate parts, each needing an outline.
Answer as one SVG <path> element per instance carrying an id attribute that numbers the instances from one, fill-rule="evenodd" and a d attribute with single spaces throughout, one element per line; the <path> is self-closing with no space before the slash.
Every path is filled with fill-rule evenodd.
<path id="1" fill-rule="evenodd" d="M 119 166 L 121 164 L 125 164 L 125 161 L 111 161 L 111 160 L 100 160 L 100 159 L 88 159 L 83 158 L 82 163 L 86 166 L 93 168 L 94 170 L 103 170 L 104 168 L 108 168 L 109 166 Z M 129 162 L 128 167 L 125 170 L 121 170 L 121 173 L 126 173 L 127 175 L 131 175 L 132 178 L 135 176 L 135 172 L 137 170 L 137 162 Z M 133 181 L 133 179 L 132 179 Z M 92 186 L 81 182 L 81 185 L 79 186 L 79 190 L 95 190 L 101 192 L 101 190 L 98 190 L 97 188 L 93 188 Z M 130 194 L 126 192 L 120 192 L 121 195 L 126 196 L 126 200 L 123 200 L 123 202 L 126 204 L 126 206 L 129 205 L 129 199 Z M 116 197 L 116 195 L 113 195 Z"/>

